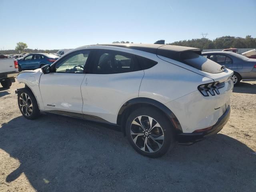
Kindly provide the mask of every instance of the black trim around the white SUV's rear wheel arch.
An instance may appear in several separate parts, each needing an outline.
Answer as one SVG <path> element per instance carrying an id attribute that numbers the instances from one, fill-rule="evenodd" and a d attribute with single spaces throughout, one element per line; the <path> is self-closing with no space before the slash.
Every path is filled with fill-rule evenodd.
<path id="1" fill-rule="evenodd" d="M 122 125 L 124 122 L 124 118 L 126 118 L 125 117 L 126 110 L 128 110 L 128 108 L 138 105 L 138 104 L 142 104 L 142 105 L 146 104 L 146 105 L 158 108 L 158 110 L 162 111 L 166 115 L 166 117 L 170 120 L 170 122 L 172 123 L 173 127 L 176 130 L 176 133 L 178 133 L 178 134 L 183 133 L 182 128 L 180 126 L 180 122 L 178 121 L 178 118 L 174 115 L 174 113 L 168 107 L 166 107 L 164 104 L 162 104 L 154 99 L 138 97 L 138 98 L 133 98 L 133 99 L 125 102 L 118 112 L 116 124 L 118 126 L 121 126 L 122 132 L 124 134 L 125 134 L 125 126 L 122 126 Z"/>

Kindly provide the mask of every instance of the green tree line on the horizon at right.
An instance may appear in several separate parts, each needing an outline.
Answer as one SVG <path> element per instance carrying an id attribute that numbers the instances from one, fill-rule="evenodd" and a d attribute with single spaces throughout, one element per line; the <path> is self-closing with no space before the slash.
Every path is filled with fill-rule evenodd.
<path id="1" fill-rule="evenodd" d="M 182 40 L 170 45 L 188 46 L 201 49 L 227 49 L 227 48 L 256 48 L 256 38 L 247 35 L 245 38 L 234 36 L 222 36 L 214 40 L 207 38 Z"/>

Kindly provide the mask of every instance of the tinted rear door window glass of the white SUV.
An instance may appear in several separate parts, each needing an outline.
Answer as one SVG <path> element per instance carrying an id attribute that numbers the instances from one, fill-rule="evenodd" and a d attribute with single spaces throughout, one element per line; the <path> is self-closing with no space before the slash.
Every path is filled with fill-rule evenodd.
<path id="1" fill-rule="evenodd" d="M 115 74 L 141 70 L 132 54 L 100 50 L 92 69 L 93 74 Z"/>

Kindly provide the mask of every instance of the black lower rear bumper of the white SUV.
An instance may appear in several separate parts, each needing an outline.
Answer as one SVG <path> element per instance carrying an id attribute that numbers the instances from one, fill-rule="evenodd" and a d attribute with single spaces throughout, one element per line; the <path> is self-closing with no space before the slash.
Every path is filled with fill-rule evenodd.
<path id="1" fill-rule="evenodd" d="M 206 136 L 210 136 L 212 134 L 218 133 L 220 130 L 222 130 L 223 126 L 228 122 L 230 116 L 230 106 L 226 109 L 224 114 L 220 116 L 216 124 L 212 127 L 210 130 L 206 130 L 203 132 L 192 132 L 192 133 L 182 133 L 178 134 L 178 142 L 180 143 L 190 143 L 190 142 L 196 142 L 199 140 L 202 140 Z"/>

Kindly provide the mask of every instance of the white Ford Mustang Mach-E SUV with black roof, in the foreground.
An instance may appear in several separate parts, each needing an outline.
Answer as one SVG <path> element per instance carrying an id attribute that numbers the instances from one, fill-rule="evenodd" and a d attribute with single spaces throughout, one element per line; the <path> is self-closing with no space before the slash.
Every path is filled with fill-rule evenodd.
<path id="1" fill-rule="evenodd" d="M 22 115 L 50 112 L 117 124 L 142 155 L 219 132 L 230 115 L 232 70 L 200 49 L 160 44 L 76 48 L 51 66 L 22 71 Z"/>

